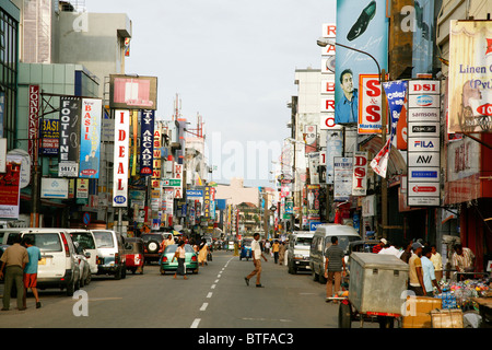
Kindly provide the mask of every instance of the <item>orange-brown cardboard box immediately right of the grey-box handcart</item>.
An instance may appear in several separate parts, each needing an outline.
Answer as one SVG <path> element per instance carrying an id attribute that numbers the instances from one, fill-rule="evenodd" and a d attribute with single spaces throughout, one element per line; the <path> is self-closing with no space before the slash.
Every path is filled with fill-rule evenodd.
<path id="1" fill-rule="evenodd" d="M 403 328 L 432 328 L 431 312 L 441 310 L 443 301 L 429 296 L 407 296 L 403 305 Z"/>

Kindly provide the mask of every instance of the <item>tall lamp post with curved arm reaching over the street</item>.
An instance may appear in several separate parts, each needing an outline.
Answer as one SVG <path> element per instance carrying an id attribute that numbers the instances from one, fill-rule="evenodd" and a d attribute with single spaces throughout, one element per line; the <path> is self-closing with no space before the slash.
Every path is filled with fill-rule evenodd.
<path id="1" fill-rule="evenodd" d="M 376 63 L 376 66 L 377 66 L 377 71 L 378 71 L 378 74 L 379 74 L 379 84 L 383 84 L 385 82 L 385 80 L 386 80 L 386 72 L 385 72 L 384 69 L 383 70 L 380 69 L 379 63 L 377 62 L 377 60 L 374 58 L 373 55 L 371 55 L 371 54 L 368 54 L 366 51 L 363 51 L 363 50 L 360 50 L 360 49 L 356 49 L 356 48 L 343 45 L 343 44 L 331 42 L 330 39 L 327 39 L 325 37 L 318 38 L 317 44 L 318 44 L 318 46 L 321 46 L 321 47 L 326 47 L 328 45 L 341 46 L 341 47 L 347 48 L 349 50 L 353 50 L 353 51 L 356 51 L 356 52 L 360 52 L 360 54 L 363 54 L 363 55 L 366 55 L 366 56 L 371 57 L 373 59 L 373 61 Z M 384 90 L 383 86 L 382 86 L 380 90 L 382 90 L 382 140 L 383 140 L 383 147 L 384 147 L 386 144 L 387 106 L 386 106 L 386 93 L 385 93 L 385 90 Z M 380 226 L 382 226 L 383 237 L 387 237 L 386 228 L 388 226 L 388 191 L 387 191 L 387 186 L 388 185 L 387 185 L 386 177 L 382 177 L 382 179 L 380 179 L 380 206 L 382 206 L 382 214 L 380 214 L 382 224 L 380 224 Z"/>

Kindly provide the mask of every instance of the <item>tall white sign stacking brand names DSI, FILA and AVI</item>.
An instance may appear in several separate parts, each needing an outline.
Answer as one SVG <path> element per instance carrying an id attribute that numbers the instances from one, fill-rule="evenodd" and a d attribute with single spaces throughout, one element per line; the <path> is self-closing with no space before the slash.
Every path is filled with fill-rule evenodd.
<path id="1" fill-rule="evenodd" d="M 412 80 L 408 95 L 408 206 L 440 206 L 441 83 Z"/>

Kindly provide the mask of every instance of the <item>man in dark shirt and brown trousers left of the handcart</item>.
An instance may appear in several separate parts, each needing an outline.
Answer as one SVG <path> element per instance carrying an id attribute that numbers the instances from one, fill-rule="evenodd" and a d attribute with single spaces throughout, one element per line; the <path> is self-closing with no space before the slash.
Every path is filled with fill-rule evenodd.
<path id="1" fill-rule="evenodd" d="M 345 260 L 343 259 L 343 249 L 338 245 L 338 237 L 331 237 L 331 246 L 325 252 L 325 278 L 326 282 L 326 301 L 329 302 L 329 298 L 333 296 L 333 280 L 335 292 L 340 290 L 342 271 L 345 275 Z"/>

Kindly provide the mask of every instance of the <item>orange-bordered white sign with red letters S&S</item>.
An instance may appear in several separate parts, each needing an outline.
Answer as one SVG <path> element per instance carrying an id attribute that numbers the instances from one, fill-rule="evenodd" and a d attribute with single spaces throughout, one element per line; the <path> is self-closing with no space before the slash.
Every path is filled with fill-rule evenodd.
<path id="1" fill-rule="evenodd" d="M 378 74 L 360 74 L 359 133 L 380 133 L 382 131 L 382 88 Z"/>

